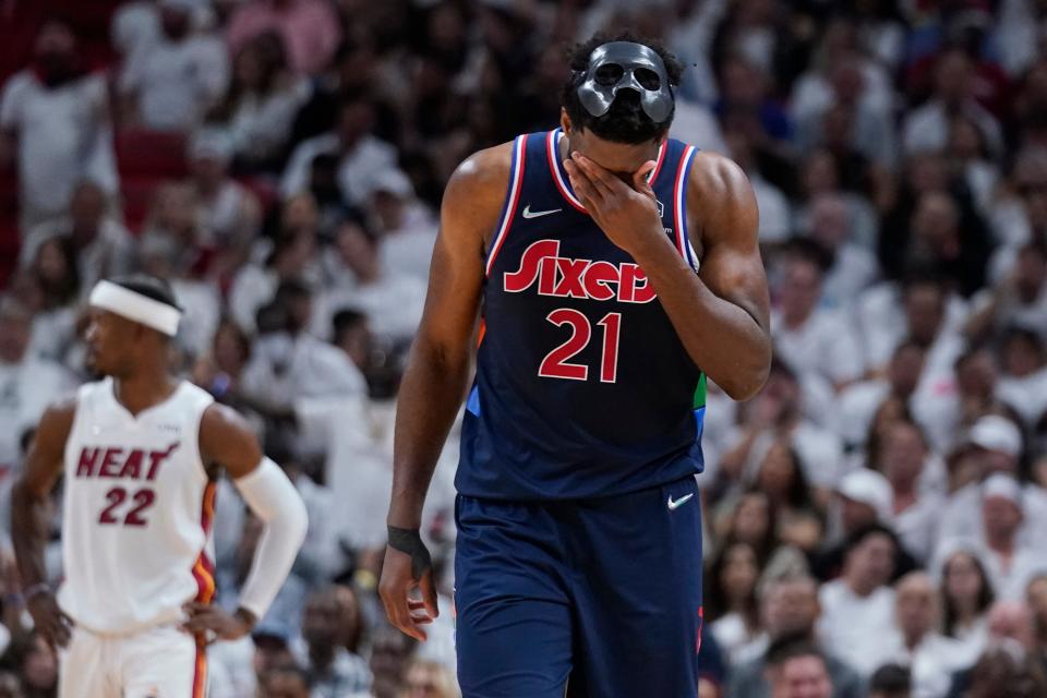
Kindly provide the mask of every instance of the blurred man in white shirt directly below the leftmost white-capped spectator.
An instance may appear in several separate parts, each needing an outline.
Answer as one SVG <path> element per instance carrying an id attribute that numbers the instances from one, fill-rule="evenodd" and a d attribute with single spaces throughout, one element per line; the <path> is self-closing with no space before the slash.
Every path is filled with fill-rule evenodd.
<path id="1" fill-rule="evenodd" d="M 843 576 L 819 593 L 821 639 L 866 676 L 890 657 L 883 640 L 894 626 L 894 591 L 888 582 L 896 547 L 889 529 L 859 529 L 847 540 Z"/>

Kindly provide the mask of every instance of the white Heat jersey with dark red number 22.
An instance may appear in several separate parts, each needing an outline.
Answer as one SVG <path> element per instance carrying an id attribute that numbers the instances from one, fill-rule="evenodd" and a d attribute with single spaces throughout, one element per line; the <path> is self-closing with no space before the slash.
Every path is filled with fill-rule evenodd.
<path id="1" fill-rule="evenodd" d="M 214 595 L 214 483 L 200 457 L 210 395 L 183 381 L 133 417 L 113 383 L 77 393 L 65 444 L 59 605 L 77 624 L 134 633 Z"/>

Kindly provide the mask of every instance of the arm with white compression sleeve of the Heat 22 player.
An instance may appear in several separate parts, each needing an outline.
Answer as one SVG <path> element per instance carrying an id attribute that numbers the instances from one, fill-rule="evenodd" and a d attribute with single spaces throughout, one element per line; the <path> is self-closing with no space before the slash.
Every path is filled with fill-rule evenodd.
<path id="1" fill-rule="evenodd" d="M 236 613 L 230 615 L 216 605 L 195 602 L 185 607 L 186 630 L 197 636 L 213 633 L 214 638 L 207 639 L 234 640 L 251 631 L 287 577 L 305 538 L 305 505 L 287 476 L 265 458 L 254 432 L 234 410 L 224 405 L 207 408 L 200 422 L 200 450 L 205 464 L 225 469 L 248 506 L 265 521 Z M 272 568 L 263 568 L 266 562 Z M 262 575 L 270 578 L 263 583 L 272 587 L 272 592 L 255 591 Z M 262 601 L 252 603 L 256 595 Z"/>

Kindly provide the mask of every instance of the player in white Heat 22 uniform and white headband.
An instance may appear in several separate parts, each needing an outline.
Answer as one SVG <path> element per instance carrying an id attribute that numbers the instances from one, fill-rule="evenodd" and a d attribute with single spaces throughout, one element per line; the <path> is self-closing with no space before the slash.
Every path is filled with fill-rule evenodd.
<path id="1" fill-rule="evenodd" d="M 40 420 L 12 494 L 12 538 L 36 627 L 60 648 L 63 698 L 201 698 L 205 645 L 248 634 L 305 537 L 305 506 L 244 421 L 170 375 L 181 311 L 133 276 L 91 292 L 88 361 L 106 377 Z M 240 607 L 209 605 L 218 468 L 265 521 Z M 60 474 L 63 580 L 52 595 L 43 513 Z"/>

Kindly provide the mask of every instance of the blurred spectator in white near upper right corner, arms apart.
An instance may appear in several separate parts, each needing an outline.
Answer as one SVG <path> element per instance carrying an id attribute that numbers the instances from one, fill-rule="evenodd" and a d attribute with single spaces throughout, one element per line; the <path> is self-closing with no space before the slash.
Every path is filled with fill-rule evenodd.
<path id="1" fill-rule="evenodd" d="M 905 119 L 904 147 L 908 154 L 940 151 L 949 134 L 950 118 L 963 113 L 977 124 L 991 153 L 1000 153 L 1000 124 L 972 96 L 974 64 L 961 48 L 941 52 L 935 70 L 931 99 Z"/>

